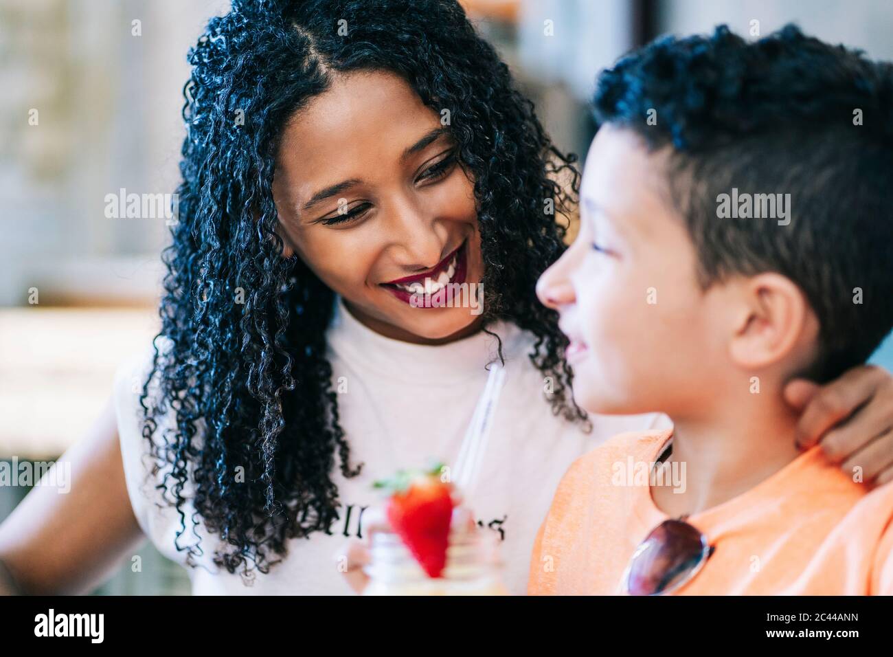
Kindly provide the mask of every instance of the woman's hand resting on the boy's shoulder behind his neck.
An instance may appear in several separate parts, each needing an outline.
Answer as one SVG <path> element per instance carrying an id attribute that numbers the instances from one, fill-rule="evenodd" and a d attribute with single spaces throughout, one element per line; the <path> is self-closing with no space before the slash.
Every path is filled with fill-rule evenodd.
<path id="1" fill-rule="evenodd" d="M 797 379 L 784 397 L 803 410 L 796 436 L 801 449 L 818 443 L 848 476 L 862 467 L 865 483 L 893 481 L 893 376 L 886 369 L 858 366 L 822 386 Z"/>

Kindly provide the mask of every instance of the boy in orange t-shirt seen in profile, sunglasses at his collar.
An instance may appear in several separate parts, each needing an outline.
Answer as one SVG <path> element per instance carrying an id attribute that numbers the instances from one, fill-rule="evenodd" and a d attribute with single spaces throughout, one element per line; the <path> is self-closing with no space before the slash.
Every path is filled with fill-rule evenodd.
<path id="1" fill-rule="evenodd" d="M 781 397 L 893 326 L 891 66 L 722 27 L 625 57 L 595 105 L 580 235 L 538 294 L 580 406 L 674 428 L 570 468 L 530 593 L 893 593 L 893 484 L 797 451 Z"/>

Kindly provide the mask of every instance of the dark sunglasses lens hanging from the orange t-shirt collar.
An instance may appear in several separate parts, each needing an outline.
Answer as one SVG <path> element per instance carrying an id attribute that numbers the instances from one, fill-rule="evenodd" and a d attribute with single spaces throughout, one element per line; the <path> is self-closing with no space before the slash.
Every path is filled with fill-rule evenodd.
<path id="1" fill-rule="evenodd" d="M 665 520 L 639 546 L 630 562 L 630 595 L 655 595 L 689 577 L 704 559 L 705 543 L 697 528 Z"/>

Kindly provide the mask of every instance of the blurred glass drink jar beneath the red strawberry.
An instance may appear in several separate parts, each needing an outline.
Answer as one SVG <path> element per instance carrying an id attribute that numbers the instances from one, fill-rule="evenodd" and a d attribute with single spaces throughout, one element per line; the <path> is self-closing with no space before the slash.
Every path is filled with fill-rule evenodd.
<path id="1" fill-rule="evenodd" d="M 363 595 L 507 595 L 498 543 L 495 532 L 453 531 L 447 567 L 440 577 L 428 577 L 398 535 L 376 532 Z"/>

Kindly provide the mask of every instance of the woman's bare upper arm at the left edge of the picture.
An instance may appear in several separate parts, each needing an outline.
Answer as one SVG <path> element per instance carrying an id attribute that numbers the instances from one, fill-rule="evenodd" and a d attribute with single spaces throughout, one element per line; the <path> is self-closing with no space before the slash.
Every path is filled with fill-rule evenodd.
<path id="1" fill-rule="evenodd" d="M 111 400 L 54 467 L 64 461 L 71 464 L 67 493 L 35 486 L 0 524 L 0 594 L 87 593 L 143 538 L 130 508 Z"/>

